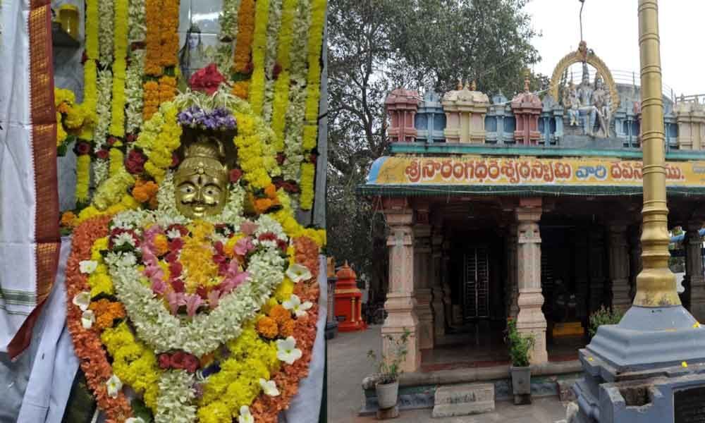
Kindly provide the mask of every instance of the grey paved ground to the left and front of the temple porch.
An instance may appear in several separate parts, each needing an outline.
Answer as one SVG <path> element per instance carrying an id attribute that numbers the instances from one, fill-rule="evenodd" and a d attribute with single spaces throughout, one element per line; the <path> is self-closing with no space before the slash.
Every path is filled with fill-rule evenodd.
<path id="1" fill-rule="evenodd" d="M 359 417 L 362 406 L 362 378 L 374 367 L 368 350 L 379 352 L 381 326 L 362 332 L 338 333 L 328 341 L 328 423 L 376 422 L 374 416 Z M 434 423 L 552 423 L 565 418 L 565 405 L 558 397 L 534 398 L 532 405 L 498 401 L 495 412 L 467 417 L 431 419 L 431 409 L 403 410 L 392 422 Z"/>

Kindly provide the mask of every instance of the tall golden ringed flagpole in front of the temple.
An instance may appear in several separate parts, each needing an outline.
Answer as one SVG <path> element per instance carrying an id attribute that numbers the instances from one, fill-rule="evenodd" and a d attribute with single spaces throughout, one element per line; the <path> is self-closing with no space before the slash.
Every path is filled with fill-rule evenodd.
<path id="1" fill-rule="evenodd" d="M 661 94 L 661 51 L 658 39 L 658 1 L 639 0 L 639 56 L 642 75 L 642 150 L 644 208 L 642 209 L 643 270 L 637 276 L 634 305 L 680 305 L 675 275 L 668 269 L 668 207 L 666 154 Z"/>

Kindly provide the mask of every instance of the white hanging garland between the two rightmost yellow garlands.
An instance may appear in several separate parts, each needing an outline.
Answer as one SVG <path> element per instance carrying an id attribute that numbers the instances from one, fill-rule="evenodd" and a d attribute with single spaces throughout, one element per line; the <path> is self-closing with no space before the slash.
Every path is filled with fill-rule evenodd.
<path id="1" fill-rule="evenodd" d="M 286 135 L 281 166 L 285 180 L 301 182 L 302 137 L 306 112 L 306 71 L 308 54 L 308 30 L 311 25 L 311 1 L 300 0 L 297 18 L 294 21 L 294 37 L 291 46 L 291 88 L 289 106 L 286 111 Z"/>

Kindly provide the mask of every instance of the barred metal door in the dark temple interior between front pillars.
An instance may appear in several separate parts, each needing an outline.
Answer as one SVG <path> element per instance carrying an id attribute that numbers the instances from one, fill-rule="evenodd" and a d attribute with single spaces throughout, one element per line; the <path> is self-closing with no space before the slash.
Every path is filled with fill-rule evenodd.
<path id="1" fill-rule="evenodd" d="M 489 247 L 470 247 L 463 255 L 462 320 L 489 317 Z"/>

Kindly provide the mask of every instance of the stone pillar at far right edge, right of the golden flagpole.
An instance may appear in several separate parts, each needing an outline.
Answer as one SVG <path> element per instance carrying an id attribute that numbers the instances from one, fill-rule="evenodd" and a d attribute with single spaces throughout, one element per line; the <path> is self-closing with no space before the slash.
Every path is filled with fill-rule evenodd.
<path id="1" fill-rule="evenodd" d="M 685 275 L 690 292 L 690 314 L 698 321 L 705 321 L 705 276 L 703 276 L 703 240 L 698 231 L 700 221 L 689 221 L 685 228 Z"/>

